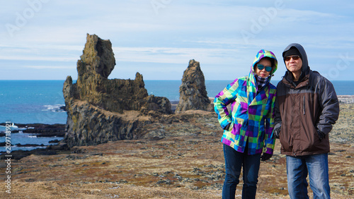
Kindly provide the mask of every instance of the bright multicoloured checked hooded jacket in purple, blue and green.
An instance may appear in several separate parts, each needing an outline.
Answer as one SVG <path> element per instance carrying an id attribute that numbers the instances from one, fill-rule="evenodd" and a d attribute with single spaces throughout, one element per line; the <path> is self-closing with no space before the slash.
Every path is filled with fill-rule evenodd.
<path id="1" fill-rule="evenodd" d="M 253 68 L 265 56 L 273 59 L 273 70 L 268 82 L 258 90 Z M 224 129 L 222 143 L 238 152 L 244 152 L 248 143 L 249 155 L 273 154 L 276 88 L 269 81 L 277 67 L 273 52 L 261 50 L 253 60 L 249 76 L 237 78 L 215 97 L 215 112 Z M 227 109 L 228 104 L 231 104 L 231 112 Z M 228 125 L 229 128 L 225 129 Z"/>

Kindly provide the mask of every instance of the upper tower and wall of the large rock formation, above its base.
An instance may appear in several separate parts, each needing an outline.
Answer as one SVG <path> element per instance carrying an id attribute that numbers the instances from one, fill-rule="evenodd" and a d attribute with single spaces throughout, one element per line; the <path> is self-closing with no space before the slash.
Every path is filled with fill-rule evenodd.
<path id="1" fill-rule="evenodd" d="M 84 54 L 77 61 L 78 79 L 74 97 L 106 111 L 139 111 L 140 104 L 148 97 L 142 75 L 137 73 L 135 80 L 109 80 L 108 76 L 115 66 L 112 44 L 97 35 L 87 35 L 86 40 Z"/>

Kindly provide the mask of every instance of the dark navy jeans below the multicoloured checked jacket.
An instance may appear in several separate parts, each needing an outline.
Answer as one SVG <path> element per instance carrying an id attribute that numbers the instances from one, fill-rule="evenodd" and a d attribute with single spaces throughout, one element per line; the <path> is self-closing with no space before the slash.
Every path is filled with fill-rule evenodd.
<path id="1" fill-rule="evenodd" d="M 244 152 L 237 152 L 234 148 L 224 144 L 224 159 L 226 176 L 222 187 L 222 198 L 235 198 L 242 166 L 244 167 L 242 198 L 256 198 L 261 154 L 248 155 L 247 148 Z"/>

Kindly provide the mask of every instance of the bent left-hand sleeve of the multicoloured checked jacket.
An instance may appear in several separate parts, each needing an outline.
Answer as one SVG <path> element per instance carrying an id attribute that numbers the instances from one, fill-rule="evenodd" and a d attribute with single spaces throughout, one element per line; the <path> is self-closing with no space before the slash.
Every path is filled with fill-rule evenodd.
<path id="1" fill-rule="evenodd" d="M 227 85 L 222 92 L 215 96 L 214 110 L 217 113 L 217 119 L 224 129 L 228 124 L 232 123 L 232 118 L 229 115 L 227 105 L 234 102 L 239 91 L 239 80 L 236 79 L 231 84 Z"/>

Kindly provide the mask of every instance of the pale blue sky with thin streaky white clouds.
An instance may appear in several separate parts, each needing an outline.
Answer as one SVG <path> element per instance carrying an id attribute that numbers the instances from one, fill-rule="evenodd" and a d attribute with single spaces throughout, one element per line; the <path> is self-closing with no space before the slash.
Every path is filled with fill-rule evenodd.
<path id="1" fill-rule="evenodd" d="M 77 78 L 86 34 L 110 40 L 108 78 L 181 80 L 190 59 L 205 80 L 247 76 L 260 49 L 278 58 L 302 44 L 309 66 L 353 80 L 354 1 L 18 0 L 0 1 L 0 80 Z"/>

